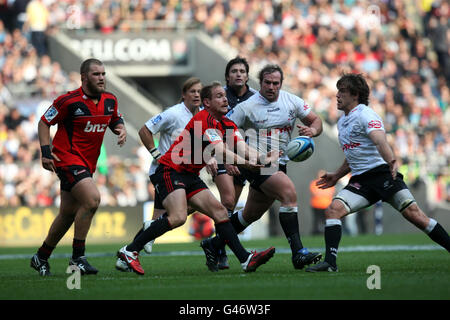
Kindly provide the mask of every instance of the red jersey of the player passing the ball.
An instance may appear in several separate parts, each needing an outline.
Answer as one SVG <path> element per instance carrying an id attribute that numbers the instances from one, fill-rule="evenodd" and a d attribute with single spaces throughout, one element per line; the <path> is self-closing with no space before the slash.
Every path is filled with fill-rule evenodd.
<path id="1" fill-rule="evenodd" d="M 242 140 L 233 121 L 225 116 L 217 121 L 208 111 L 202 110 L 188 122 L 159 162 L 178 172 L 199 174 L 206 165 L 203 159 L 205 149 L 211 144 L 228 142 L 227 133 L 232 134 L 231 138 L 235 145 L 238 140 Z"/>

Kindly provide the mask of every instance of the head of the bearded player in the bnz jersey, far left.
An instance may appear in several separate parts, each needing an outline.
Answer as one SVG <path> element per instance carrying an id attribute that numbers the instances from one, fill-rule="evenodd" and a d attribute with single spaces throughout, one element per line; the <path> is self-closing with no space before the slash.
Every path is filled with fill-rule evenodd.
<path id="1" fill-rule="evenodd" d="M 105 66 L 98 59 L 87 59 L 80 66 L 81 85 L 85 93 L 99 95 L 106 90 Z"/>

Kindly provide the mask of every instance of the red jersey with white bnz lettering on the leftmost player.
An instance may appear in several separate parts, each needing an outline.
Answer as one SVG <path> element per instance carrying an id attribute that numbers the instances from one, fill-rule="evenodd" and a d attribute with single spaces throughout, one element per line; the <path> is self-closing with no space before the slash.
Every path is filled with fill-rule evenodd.
<path id="1" fill-rule="evenodd" d="M 117 98 L 109 92 L 101 94 L 95 104 L 78 88 L 56 98 L 41 120 L 47 125 L 58 124 L 52 141 L 52 152 L 61 161 L 57 167 L 80 165 L 94 173 L 106 128 L 123 123 Z"/>

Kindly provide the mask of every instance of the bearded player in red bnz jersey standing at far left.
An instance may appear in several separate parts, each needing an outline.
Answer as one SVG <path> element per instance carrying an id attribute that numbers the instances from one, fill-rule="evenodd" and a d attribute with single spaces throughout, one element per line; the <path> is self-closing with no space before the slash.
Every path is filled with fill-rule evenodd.
<path id="1" fill-rule="evenodd" d="M 101 144 L 109 127 L 122 146 L 127 138 L 117 98 L 106 92 L 105 67 L 100 60 L 87 59 L 80 67 L 81 87 L 59 96 L 38 124 L 42 166 L 61 180 L 61 205 L 47 237 L 31 258 L 31 267 L 50 275 L 48 258 L 74 223 L 73 253 L 69 265 L 81 274 L 96 274 L 85 256 L 85 241 L 92 218 L 100 204 L 94 174 Z M 58 129 L 50 147 L 50 126 Z"/>

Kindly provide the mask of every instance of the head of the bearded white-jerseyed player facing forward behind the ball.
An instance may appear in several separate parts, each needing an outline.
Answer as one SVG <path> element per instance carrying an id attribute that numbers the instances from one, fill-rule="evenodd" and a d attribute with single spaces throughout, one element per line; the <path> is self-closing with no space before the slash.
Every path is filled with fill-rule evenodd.
<path id="1" fill-rule="evenodd" d="M 283 84 L 283 70 L 276 64 L 268 64 L 259 72 L 259 92 L 267 100 L 273 102 L 278 99 Z"/>

